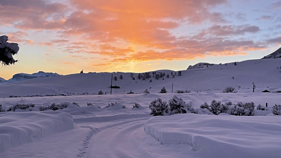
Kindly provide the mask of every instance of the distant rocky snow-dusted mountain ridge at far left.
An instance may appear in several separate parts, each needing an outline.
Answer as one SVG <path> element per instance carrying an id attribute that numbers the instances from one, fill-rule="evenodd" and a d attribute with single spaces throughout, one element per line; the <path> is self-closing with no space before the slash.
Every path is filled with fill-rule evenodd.
<path id="1" fill-rule="evenodd" d="M 2 83 L 12 83 L 12 82 L 18 82 L 18 81 L 28 80 L 28 79 L 32 79 L 32 78 L 56 77 L 56 76 L 61 76 L 61 75 L 57 74 L 57 73 L 52 73 L 52 72 L 39 71 L 39 72 L 33 73 L 33 74 L 25 74 L 25 73 L 14 74 L 11 79 L 2 80 L 2 78 L 1 78 L 1 81 L 2 81 Z"/>

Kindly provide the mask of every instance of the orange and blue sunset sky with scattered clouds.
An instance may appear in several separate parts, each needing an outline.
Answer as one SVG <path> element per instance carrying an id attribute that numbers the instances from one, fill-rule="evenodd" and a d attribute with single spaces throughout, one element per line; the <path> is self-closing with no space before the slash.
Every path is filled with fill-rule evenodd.
<path id="1" fill-rule="evenodd" d="M 186 70 L 260 59 L 281 46 L 278 0 L 0 0 L 17 73 Z"/>

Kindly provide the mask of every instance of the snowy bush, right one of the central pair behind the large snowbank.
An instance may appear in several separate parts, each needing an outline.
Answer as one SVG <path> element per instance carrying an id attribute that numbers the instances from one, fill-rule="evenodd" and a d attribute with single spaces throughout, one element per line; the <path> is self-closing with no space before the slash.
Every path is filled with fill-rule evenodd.
<path id="1" fill-rule="evenodd" d="M 187 105 L 186 102 L 182 100 L 182 98 L 178 98 L 175 95 L 172 99 L 169 100 L 169 106 L 171 115 L 175 113 L 186 113 L 186 111 L 193 111 L 193 107 L 191 105 Z"/>

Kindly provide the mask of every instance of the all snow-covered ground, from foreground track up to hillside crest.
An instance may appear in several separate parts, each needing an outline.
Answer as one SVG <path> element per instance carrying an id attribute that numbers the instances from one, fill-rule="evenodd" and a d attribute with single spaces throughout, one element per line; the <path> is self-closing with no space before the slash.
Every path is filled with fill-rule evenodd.
<path id="1" fill-rule="evenodd" d="M 118 77 L 113 82 L 121 87 L 113 89 L 113 95 L 109 95 L 108 88 L 111 73 L 72 74 L 1 84 L 0 104 L 5 110 L 16 104 L 34 104 L 34 107 L 0 112 L 0 157 L 281 157 L 281 116 L 273 116 L 271 112 L 272 106 L 281 103 L 281 93 L 261 92 L 281 87 L 280 61 L 250 60 L 237 66 L 228 63 L 183 70 L 182 76 L 171 78 L 170 74 L 170 78 L 153 78 L 152 82 L 139 80 L 138 74 L 132 80 L 130 73 L 113 73 L 113 77 L 123 76 L 122 80 Z M 157 72 L 167 74 L 171 70 Z M 254 93 L 252 82 L 256 85 Z M 170 93 L 172 83 L 173 91 L 191 93 Z M 222 93 L 226 86 L 238 92 Z M 159 94 L 163 87 L 168 93 Z M 142 94 L 146 88 L 150 94 Z M 91 95 L 100 90 L 107 95 Z M 130 90 L 141 94 L 127 94 Z M 69 96 L 45 96 L 49 94 Z M 23 97 L 27 95 L 42 96 Z M 268 108 L 255 109 L 255 116 L 150 115 L 150 102 L 157 98 L 168 101 L 174 95 L 194 109 L 214 99 L 234 104 L 254 102 L 256 107 L 267 103 Z M 140 108 L 132 108 L 135 102 Z M 52 103 L 69 106 L 38 111 L 39 107 Z M 107 107 L 111 103 L 115 105 Z"/>

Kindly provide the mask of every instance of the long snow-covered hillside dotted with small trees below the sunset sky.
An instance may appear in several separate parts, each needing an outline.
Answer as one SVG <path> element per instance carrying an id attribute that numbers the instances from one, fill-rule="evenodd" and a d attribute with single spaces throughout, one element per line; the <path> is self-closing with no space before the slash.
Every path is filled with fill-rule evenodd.
<path id="1" fill-rule="evenodd" d="M 27 96 L 27 95 L 81 95 L 97 94 L 99 91 L 110 94 L 111 74 L 117 77 L 112 85 L 120 89 L 112 89 L 112 94 L 142 93 L 148 89 L 151 93 L 160 92 L 165 87 L 168 93 L 177 90 L 191 92 L 222 92 L 225 87 L 231 86 L 238 92 L 252 92 L 253 82 L 255 91 L 281 87 L 281 58 L 255 59 L 243 62 L 227 63 L 209 66 L 204 69 L 182 70 L 182 76 L 173 77 L 177 72 L 171 70 L 157 70 L 156 73 L 165 73 L 165 76 L 156 79 L 150 72 L 151 78 L 138 79 L 138 73 L 84 73 L 70 74 L 57 77 L 34 78 L 14 83 L 0 84 L 0 97 Z M 169 74 L 169 78 L 167 78 Z M 173 74 L 173 75 L 171 75 Z M 123 79 L 120 79 L 120 76 Z M 151 82 L 150 82 L 151 79 Z"/>

